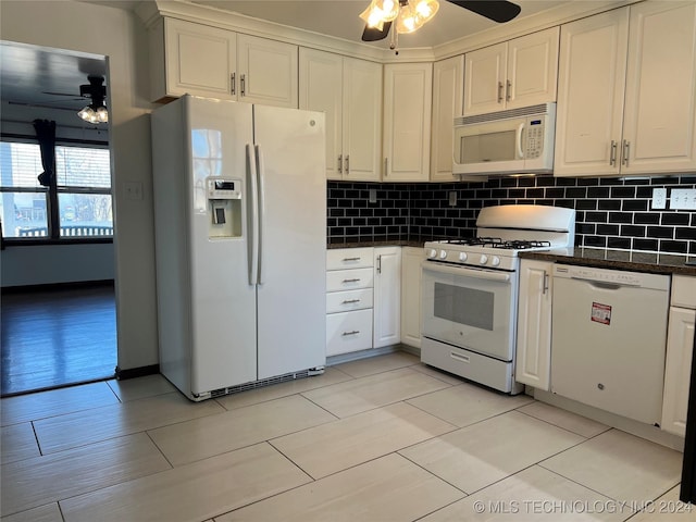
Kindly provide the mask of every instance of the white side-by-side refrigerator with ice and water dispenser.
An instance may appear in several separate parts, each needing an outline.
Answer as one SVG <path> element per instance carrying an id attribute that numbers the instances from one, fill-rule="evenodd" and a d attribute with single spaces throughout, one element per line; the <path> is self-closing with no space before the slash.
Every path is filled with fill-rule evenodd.
<path id="1" fill-rule="evenodd" d="M 321 373 L 323 113 L 184 96 L 151 128 L 161 373 L 191 400 Z"/>

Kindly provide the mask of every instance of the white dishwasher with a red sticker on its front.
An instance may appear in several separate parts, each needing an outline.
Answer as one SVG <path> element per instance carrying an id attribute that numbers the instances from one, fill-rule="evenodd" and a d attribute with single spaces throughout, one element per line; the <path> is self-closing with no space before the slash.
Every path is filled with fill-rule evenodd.
<path id="1" fill-rule="evenodd" d="M 659 425 L 670 276 L 556 264 L 551 391 Z"/>

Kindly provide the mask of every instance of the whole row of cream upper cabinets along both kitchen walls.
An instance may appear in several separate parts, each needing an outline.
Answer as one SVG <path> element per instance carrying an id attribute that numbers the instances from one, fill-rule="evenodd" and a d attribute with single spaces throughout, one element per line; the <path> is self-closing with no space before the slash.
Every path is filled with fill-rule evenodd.
<path id="1" fill-rule="evenodd" d="M 648 0 L 434 63 L 355 59 L 163 17 L 153 100 L 326 114 L 330 179 L 456 181 L 452 121 L 557 102 L 558 176 L 696 169 L 696 2 Z"/>

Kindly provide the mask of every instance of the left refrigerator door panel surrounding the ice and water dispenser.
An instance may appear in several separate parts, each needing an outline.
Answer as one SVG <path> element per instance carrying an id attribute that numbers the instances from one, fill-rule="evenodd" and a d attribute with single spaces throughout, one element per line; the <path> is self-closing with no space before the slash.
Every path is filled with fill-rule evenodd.
<path id="1" fill-rule="evenodd" d="M 257 380 L 256 288 L 249 284 L 248 144 L 252 109 L 247 103 L 186 98 L 190 140 L 190 279 L 192 302 L 191 391 L 210 391 Z M 206 178 L 241 183 L 241 237 L 210 238 L 211 201 Z"/>

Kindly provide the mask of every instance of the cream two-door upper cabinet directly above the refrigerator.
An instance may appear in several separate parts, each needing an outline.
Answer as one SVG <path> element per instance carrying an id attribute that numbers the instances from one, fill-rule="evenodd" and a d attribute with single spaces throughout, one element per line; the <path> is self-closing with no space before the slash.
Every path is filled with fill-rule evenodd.
<path id="1" fill-rule="evenodd" d="M 164 17 L 150 29 L 151 98 L 297 107 L 297 46 Z"/>

